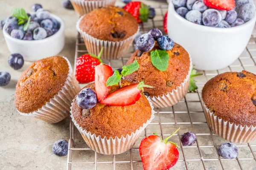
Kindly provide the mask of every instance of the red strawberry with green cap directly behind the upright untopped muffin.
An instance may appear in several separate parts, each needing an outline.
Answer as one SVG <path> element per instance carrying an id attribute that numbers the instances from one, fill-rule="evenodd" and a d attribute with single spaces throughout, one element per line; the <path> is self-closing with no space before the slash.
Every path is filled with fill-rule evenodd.
<path id="1" fill-rule="evenodd" d="M 123 8 L 134 16 L 137 23 L 147 22 L 149 17 L 149 6 L 144 3 L 134 1 L 126 4 Z"/>

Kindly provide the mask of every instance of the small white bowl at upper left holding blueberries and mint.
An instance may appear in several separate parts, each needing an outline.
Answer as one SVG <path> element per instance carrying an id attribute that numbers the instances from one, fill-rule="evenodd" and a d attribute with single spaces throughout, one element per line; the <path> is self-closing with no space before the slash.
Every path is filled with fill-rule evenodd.
<path id="1" fill-rule="evenodd" d="M 11 37 L 5 29 L 3 29 L 3 36 L 9 51 L 21 54 L 27 61 L 37 61 L 46 57 L 57 55 L 64 47 L 64 23 L 60 17 L 50 14 L 60 23 L 60 29 L 50 37 L 42 40 L 19 40 Z"/>

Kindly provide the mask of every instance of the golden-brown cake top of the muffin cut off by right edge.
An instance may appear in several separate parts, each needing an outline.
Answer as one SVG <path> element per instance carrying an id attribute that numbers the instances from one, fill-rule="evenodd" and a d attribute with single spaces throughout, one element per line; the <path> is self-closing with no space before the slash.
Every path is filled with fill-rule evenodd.
<path id="1" fill-rule="evenodd" d="M 215 116 L 256 126 L 256 75 L 248 71 L 226 72 L 210 79 L 202 90 L 205 105 Z"/>

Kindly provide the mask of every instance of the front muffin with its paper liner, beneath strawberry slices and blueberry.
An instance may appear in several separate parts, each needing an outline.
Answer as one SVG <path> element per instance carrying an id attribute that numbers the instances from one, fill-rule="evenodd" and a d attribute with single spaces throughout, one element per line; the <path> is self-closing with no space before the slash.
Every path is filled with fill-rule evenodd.
<path id="1" fill-rule="evenodd" d="M 122 86 L 129 84 L 122 80 Z M 95 83 L 84 88 L 95 91 Z M 111 86 L 109 94 L 118 88 L 118 85 Z M 71 117 L 91 149 L 102 154 L 120 154 L 134 145 L 141 131 L 154 118 L 154 111 L 144 95 L 133 105 L 113 106 L 97 102 L 91 109 L 80 108 L 75 97 Z"/>

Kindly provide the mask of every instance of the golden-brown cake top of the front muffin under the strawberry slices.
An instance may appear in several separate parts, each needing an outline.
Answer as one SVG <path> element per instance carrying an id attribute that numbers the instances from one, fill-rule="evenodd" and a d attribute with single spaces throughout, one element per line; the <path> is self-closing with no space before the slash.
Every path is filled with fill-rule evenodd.
<path id="1" fill-rule="evenodd" d="M 123 86 L 128 84 L 130 83 L 122 80 Z M 91 88 L 95 91 L 95 84 L 91 83 L 84 88 Z M 118 85 L 111 86 L 110 93 L 117 89 Z M 151 106 L 144 95 L 141 95 L 134 105 L 111 106 L 97 102 L 96 106 L 89 110 L 80 108 L 74 101 L 72 112 L 74 119 L 83 130 L 91 134 L 95 133 L 96 136 L 102 138 L 106 136 L 107 139 L 131 135 L 151 118 Z"/>

